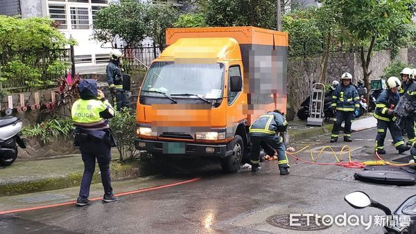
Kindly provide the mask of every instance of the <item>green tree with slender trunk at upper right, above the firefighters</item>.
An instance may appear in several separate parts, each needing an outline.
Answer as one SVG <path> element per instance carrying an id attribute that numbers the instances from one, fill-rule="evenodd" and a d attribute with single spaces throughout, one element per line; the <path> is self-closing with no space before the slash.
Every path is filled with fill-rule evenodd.
<path id="1" fill-rule="evenodd" d="M 335 10 L 336 21 L 361 46 L 364 83 L 370 90 L 369 66 L 376 39 L 388 37 L 397 27 L 410 24 L 414 1 L 324 0 L 323 3 Z"/>

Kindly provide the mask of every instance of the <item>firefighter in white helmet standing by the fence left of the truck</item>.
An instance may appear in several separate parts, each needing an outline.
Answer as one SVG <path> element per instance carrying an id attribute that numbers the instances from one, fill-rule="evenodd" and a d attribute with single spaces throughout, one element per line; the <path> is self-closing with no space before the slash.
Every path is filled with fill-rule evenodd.
<path id="1" fill-rule="evenodd" d="M 128 101 L 125 100 L 123 89 L 123 75 L 121 74 L 121 51 L 112 50 L 110 52 L 110 62 L 107 65 L 107 82 L 116 99 L 115 109 L 120 111 L 123 107 L 128 107 Z"/>

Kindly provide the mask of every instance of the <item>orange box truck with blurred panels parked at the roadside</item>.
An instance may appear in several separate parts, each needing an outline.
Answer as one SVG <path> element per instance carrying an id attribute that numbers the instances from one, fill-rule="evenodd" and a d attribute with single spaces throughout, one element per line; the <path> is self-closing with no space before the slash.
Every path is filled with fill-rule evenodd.
<path id="1" fill-rule="evenodd" d="M 255 27 L 169 28 L 137 100 L 135 147 L 159 159 L 248 161 L 252 121 L 286 112 L 287 33 Z"/>

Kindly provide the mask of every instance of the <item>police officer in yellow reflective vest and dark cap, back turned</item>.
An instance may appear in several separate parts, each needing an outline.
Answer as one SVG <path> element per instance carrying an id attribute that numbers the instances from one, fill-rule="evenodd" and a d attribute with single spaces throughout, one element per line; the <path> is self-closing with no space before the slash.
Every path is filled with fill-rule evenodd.
<path id="1" fill-rule="evenodd" d="M 114 109 L 104 98 L 103 92 L 97 90 L 95 80 L 82 80 L 78 84 L 80 99 L 73 103 L 71 116 L 75 125 L 74 145 L 80 147 L 84 161 L 84 174 L 80 185 L 77 206 L 87 206 L 89 186 L 95 170 L 96 159 L 101 171 L 104 187 L 103 202 L 116 201 L 110 179 L 110 147 L 115 146 L 107 118 L 114 117 Z"/>

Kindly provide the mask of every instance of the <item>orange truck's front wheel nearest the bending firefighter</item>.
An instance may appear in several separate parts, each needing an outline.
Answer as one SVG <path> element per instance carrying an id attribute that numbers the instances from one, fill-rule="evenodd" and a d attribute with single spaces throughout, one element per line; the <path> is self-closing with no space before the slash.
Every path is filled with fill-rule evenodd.
<path id="1" fill-rule="evenodd" d="M 221 168 L 225 172 L 237 172 L 240 170 L 240 163 L 244 154 L 243 138 L 235 135 L 234 139 L 229 143 L 229 147 L 232 149 L 232 154 L 221 159 Z"/>

